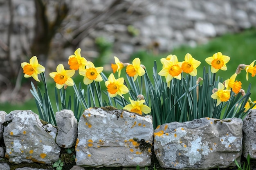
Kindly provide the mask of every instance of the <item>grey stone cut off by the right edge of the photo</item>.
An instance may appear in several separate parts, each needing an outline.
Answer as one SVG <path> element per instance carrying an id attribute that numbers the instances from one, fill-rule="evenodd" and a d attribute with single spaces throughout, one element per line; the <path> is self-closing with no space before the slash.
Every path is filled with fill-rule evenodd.
<path id="1" fill-rule="evenodd" d="M 256 159 L 256 109 L 250 110 L 243 120 L 243 156 Z"/>

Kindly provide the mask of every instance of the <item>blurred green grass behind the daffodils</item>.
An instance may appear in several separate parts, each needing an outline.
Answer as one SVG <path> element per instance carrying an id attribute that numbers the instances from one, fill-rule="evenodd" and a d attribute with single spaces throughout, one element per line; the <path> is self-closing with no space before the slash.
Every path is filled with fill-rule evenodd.
<path id="1" fill-rule="evenodd" d="M 249 65 L 253 60 L 256 60 L 256 29 L 249 29 L 243 31 L 243 33 L 238 34 L 223 35 L 222 37 L 212 39 L 207 44 L 198 45 L 195 48 L 189 46 L 181 46 L 169 53 L 159 54 L 157 56 L 146 51 L 139 51 L 131 56 L 131 61 L 133 58 L 139 57 L 141 59 L 141 64 L 146 66 L 149 74 L 152 74 L 154 60 L 157 61 L 157 69 L 160 71 L 162 68 L 162 64 L 160 63 L 161 58 L 166 57 L 169 54 L 173 54 L 178 57 L 180 62 L 182 62 L 186 53 L 190 53 L 196 60 L 201 61 L 201 65 L 198 67 L 199 77 L 202 76 L 203 66 L 206 66 L 208 70 L 208 64 L 204 60 L 207 57 L 212 56 L 214 53 L 217 53 L 218 51 L 220 51 L 223 55 L 227 55 L 231 58 L 231 60 L 227 63 L 228 70 L 220 70 L 217 72 L 217 76 L 223 77 L 223 79 L 228 79 L 235 73 L 239 64 Z M 110 73 L 105 74 L 108 77 Z M 117 77 L 117 73 L 115 76 Z M 121 76 L 125 76 L 124 70 L 122 70 Z M 242 71 L 236 77 L 236 79 L 242 82 L 242 88 L 245 89 L 245 91 L 247 91 L 248 84 L 252 83 L 251 98 L 253 101 L 256 100 L 256 77 L 252 77 L 251 74 L 249 74 L 249 81 L 246 81 L 246 72 Z M 83 77 L 77 76 L 74 78 L 74 81 L 83 82 Z M 53 83 L 52 79 L 48 82 L 48 89 L 50 91 L 49 93 L 53 94 L 52 105 L 54 106 L 54 109 L 56 109 L 54 100 L 54 88 L 52 88 L 55 86 L 55 84 Z M 40 86 L 40 84 L 38 85 Z M 104 82 L 102 82 L 101 87 L 105 88 Z M 43 89 L 43 87 L 41 89 Z M 67 94 L 73 95 L 73 93 L 73 88 L 67 88 Z M 33 98 L 22 104 L 0 103 L 0 110 L 4 110 L 7 113 L 11 112 L 12 110 L 32 110 L 37 113 L 36 104 Z"/>

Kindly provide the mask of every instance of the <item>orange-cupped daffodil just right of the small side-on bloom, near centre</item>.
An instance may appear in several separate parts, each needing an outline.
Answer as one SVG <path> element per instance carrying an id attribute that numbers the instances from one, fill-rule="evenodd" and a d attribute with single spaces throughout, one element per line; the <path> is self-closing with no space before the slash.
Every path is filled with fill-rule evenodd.
<path id="1" fill-rule="evenodd" d="M 142 76 L 145 74 L 145 70 L 140 66 L 140 60 L 139 58 L 135 58 L 132 61 L 132 64 L 126 66 L 126 73 L 133 77 L 133 81 L 135 81 L 139 76 Z"/>

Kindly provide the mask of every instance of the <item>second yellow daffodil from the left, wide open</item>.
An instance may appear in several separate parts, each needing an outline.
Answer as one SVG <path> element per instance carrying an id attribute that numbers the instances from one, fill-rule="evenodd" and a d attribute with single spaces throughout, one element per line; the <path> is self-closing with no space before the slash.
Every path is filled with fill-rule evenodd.
<path id="1" fill-rule="evenodd" d="M 57 72 L 50 73 L 50 77 L 54 79 L 54 82 L 56 82 L 56 87 L 58 89 L 61 89 L 64 84 L 67 86 L 73 86 L 74 82 L 71 78 L 75 74 L 75 70 L 65 70 L 63 64 L 59 64 L 56 68 Z"/>

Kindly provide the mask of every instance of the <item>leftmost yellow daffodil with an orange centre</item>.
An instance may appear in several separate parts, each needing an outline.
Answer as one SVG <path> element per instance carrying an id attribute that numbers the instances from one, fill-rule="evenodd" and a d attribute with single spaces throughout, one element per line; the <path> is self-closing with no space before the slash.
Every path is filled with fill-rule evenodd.
<path id="1" fill-rule="evenodd" d="M 23 68 L 24 77 L 33 77 L 36 81 L 40 82 L 38 79 L 38 74 L 45 71 L 45 67 L 38 64 L 36 56 L 31 57 L 29 63 L 22 62 L 21 67 Z"/>

